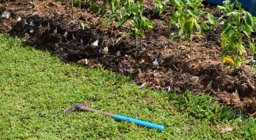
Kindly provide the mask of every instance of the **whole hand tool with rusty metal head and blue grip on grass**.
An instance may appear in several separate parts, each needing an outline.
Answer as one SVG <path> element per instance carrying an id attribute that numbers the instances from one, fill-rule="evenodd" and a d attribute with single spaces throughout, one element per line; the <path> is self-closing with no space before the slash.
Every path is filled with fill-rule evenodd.
<path id="1" fill-rule="evenodd" d="M 98 112 L 102 115 L 106 115 L 108 117 L 114 118 L 117 121 L 125 121 L 125 122 L 128 122 L 128 123 L 135 123 L 137 126 L 145 127 L 145 128 L 148 128 L 148 129 L 157 129 L 157 130 L 160 130 L 160 131 L 164 130 L 164 126 L 161 126 L 161 125 L 158 125 L 158 124 L 155 124 L 155 123 L 149 123 L 149 122 L 146 122 L 146 121 L 143 121 L 143 120 L 128 118 L 128 117 L 125 117 L 125 116 L 122 116 L 122 115 L 114 115 L 114 114 L 111 114 L 111 113 L 108 113 L 108 112 L 103 112 L 103 111 L 100 111 L 100 110 L 89 108 L 89 107 L 87 107 L 89 102 L 91 102 L 91 101 L 85 102 L 83 104 L 77 103 L 77 104 L 75 104 L 74 107 L 70 106 L 69 108 L 66 109 L 66 117 L 68 115 L 70 115 L 71 112 L 73 112 L 75 110 Z"/>

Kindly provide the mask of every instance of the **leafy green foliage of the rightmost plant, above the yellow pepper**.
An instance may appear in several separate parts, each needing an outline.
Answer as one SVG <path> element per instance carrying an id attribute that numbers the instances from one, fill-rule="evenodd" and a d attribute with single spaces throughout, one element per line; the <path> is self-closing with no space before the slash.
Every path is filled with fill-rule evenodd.
<path id="1" fill-rule="evenodd" d="M 223 6 L 217 6 L 216 10 L 224 10 L 221 17 L 227 17 L 221 27 L 221 57 L 231 55 L 231 58 L 234 59 L 236 71 L 242 63 L 246 62 L 243 58 L 243 54 L 247 53 L 245 46 L 249 46 L 249 52 L 252 56 L 255 52 L 255 44 L 253 39 L 250 39 L 250 35 L 256 28 L 256 17 L 242 9 L 238 0 L 235 0 L 232 4 L 230 3 L 230 0 L 225 0 Z"/>

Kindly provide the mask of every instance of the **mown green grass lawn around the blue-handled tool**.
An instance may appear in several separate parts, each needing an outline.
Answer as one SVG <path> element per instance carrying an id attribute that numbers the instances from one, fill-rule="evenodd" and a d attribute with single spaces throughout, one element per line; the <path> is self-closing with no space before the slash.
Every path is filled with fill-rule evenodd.
<path id="1" fill-rule="evenodd" d="M 236 121 L 209 95 L 140 89 L 131 78 L 100 68 L 65 64 L 50 53 L 0 35 L 0 139 L 254 139 L 253 118 Z M 89 104 L 113 114 L 165 126 L 163 132 L 91 112 L 65 110 Z M 221 133 L 221 129 L 233 130 Z"/>

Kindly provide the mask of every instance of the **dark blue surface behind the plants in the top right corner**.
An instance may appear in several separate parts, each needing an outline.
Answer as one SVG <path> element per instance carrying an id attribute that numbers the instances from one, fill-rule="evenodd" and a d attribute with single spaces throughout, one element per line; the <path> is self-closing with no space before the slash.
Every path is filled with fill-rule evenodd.
<path id="1" fill-rule="evenodd" d="M 221 5 L 224 0 L 205 0 L 206 3 L 212 3 L 216 5 Z M 235 0 L 231 0 L 233 3 Z M 242 8 L 249 11 L 254 17 L 256 17 L 256 0 L 238 0 L 238 2 L 242 3 Z"/>

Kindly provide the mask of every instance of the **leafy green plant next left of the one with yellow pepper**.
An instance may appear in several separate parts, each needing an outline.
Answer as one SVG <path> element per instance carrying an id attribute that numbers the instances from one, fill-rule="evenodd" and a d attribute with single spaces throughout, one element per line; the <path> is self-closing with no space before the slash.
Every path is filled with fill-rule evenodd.
<path id="1" fill-rule="evenodd" d="M 157 0 L 158 3 L 162 3 L 163 6 L 160 7 L 161 14 L 166 6 L 171 2 L 173 4 L 173 12 L 167 12 L 166 15 L 172 14 L 169 30 L 172 28 L 172 25 L 176 25 L 177 35 L 173 36 L 173 39 L 187 39 L 189 42 L 189 54 L 192 55 L 192 33 L 194 28 L 198 30 L 200 34 L 196 36 L 203 37 L 203 28 L 207 30 L 209 25 L 207 25 L 202 19 L 202 15 L 207 12 L 201 10 L 201 2 L 203 0 L 169 0 L 168 2 L 162 2 Z M 215 17 L 212 14 L 207 13 L 209 24 L 216 24 Z M 185 34 L 184 34 L 185 33 Z"/>

